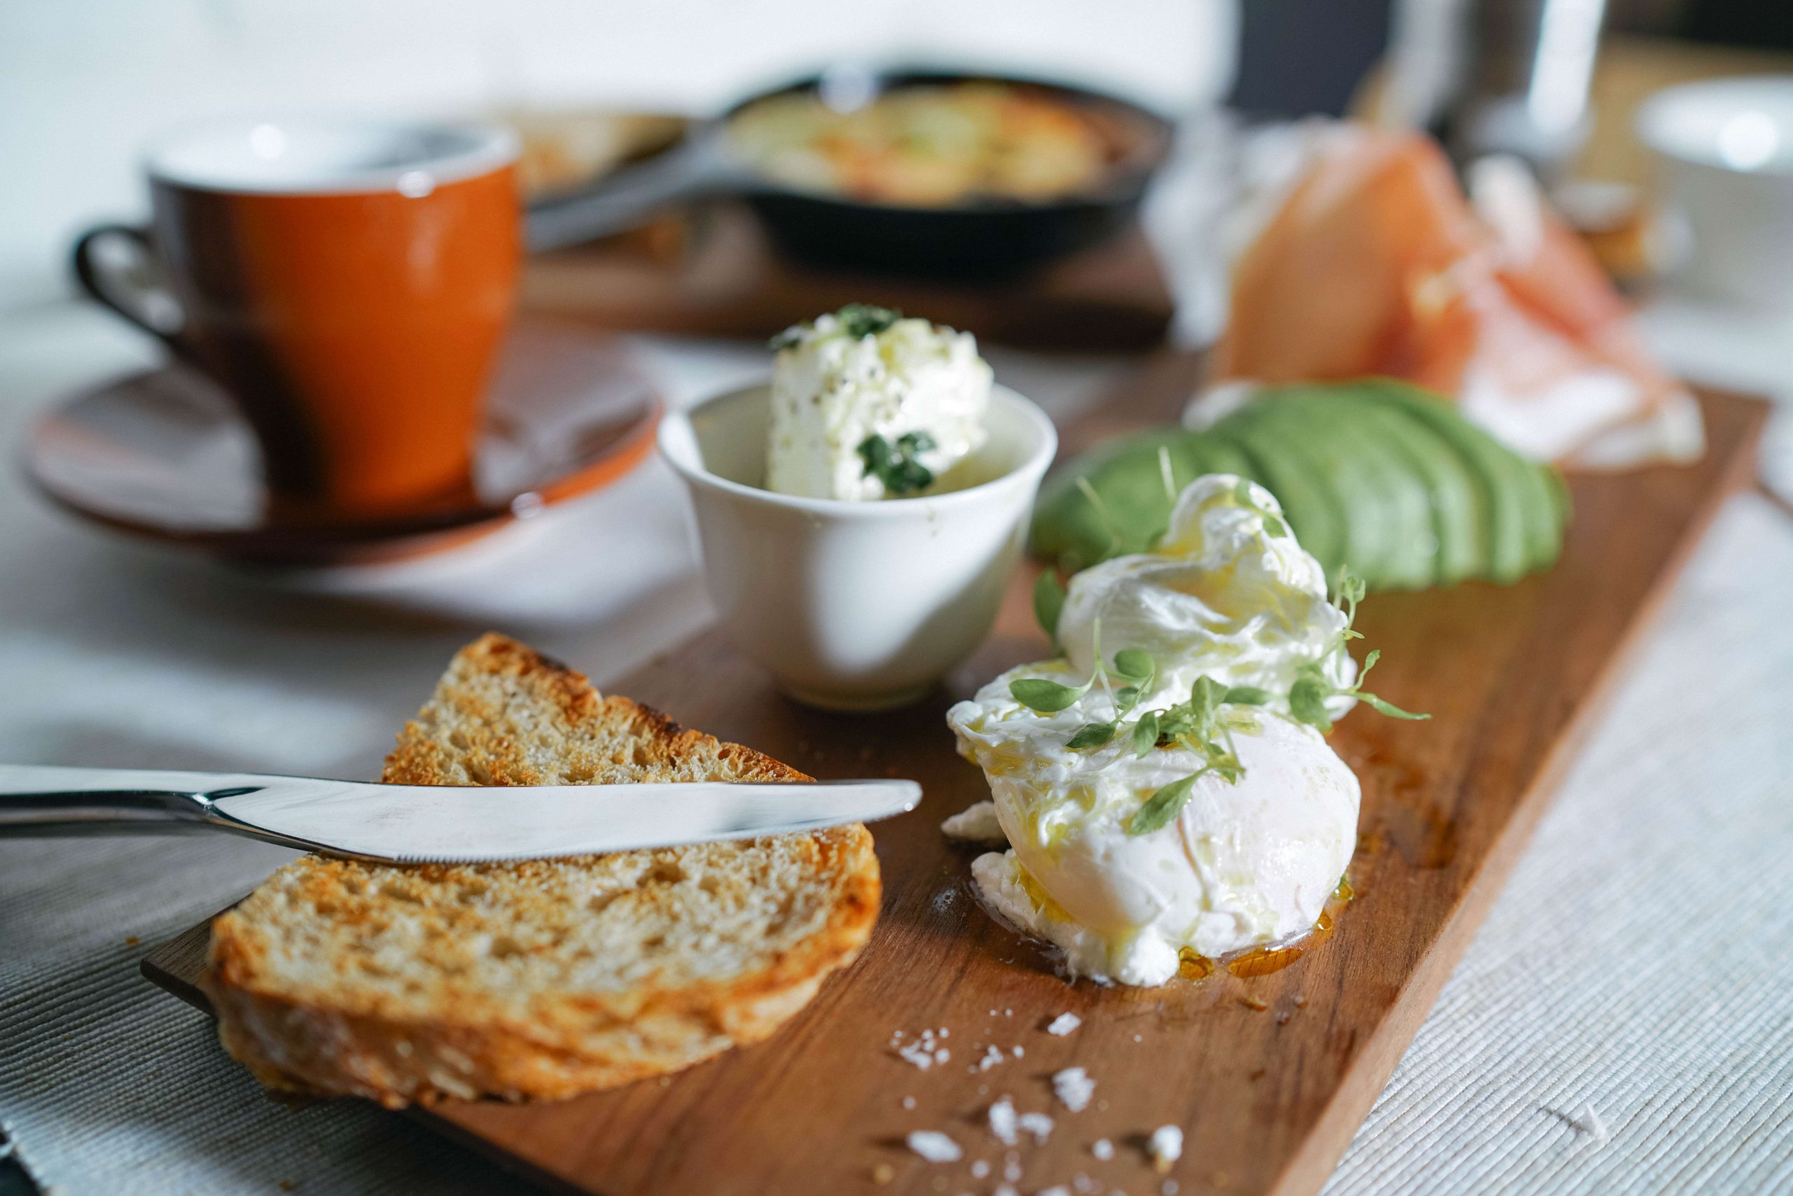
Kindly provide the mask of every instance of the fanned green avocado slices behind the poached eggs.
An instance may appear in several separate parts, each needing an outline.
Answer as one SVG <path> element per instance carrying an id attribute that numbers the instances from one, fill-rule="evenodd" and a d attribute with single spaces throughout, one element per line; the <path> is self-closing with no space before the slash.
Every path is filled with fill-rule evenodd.
<path id="1" fill-rule="evenodd" d="M 1078 457 L 1042 490 L 1033 550 L 1072 570 L 1149 550 L 1205 473 L 1268 486 L 1329 579 L 1348 565 L 1372 588 L 1515 581 L 1556 559 L 1569 515 L 1553 468 L 1427 391 L 1372 378 L 1275 387 L 1203 432 L 1160 429 Z"/>

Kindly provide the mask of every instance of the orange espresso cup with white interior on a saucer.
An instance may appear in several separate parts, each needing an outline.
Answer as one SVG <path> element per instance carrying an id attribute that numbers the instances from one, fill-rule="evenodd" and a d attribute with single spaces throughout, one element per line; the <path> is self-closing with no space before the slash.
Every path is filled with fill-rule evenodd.
<path id="1" fill-rule="evenodd" d="M 516 142 L 497 129 L 264 120 L 147 156 L 154 221 L 75 244 L 86 290 L 215 378 L 296 516 L 468 497 L 511 321 Z"/>

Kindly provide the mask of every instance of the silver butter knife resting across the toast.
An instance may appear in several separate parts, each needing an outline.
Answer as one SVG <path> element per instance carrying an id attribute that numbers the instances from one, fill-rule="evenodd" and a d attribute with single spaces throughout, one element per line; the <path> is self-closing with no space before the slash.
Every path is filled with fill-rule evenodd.
<path id="1" fill-rule="evenodd" d="M 473 787 L 0 764 L 0 836 L 228 830 L 400 864 L 751 839 L 891 818 L 920 800 L 913 780 Z"/>

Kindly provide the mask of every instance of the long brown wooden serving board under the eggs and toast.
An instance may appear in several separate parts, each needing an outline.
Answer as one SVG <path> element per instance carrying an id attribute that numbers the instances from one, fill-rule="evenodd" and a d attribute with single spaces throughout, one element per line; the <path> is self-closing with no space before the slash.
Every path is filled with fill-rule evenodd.
<path id="1" fill-rule="evenodd" d="M 1067 441 L 1167 416 L 1192 369 L 1187 357 L 1160 359 Z M 1553 572 L 1364 604 L 1359 628 L 1384 649 L 1377 690 L 1433 721 L 1354 714 L 1336 732 L 1363 778 L 1356 897 L 1307 950 L 1239 968 L 1259 974 L 1221 965 L 1160 990 L 1067 984 L 977 906 L 975 848 L 945 841 L 940 821 L 986 791 L 941 715 L 999 669 L 1044 654 L 1020 583 L 943 692 L 886 715 L 791 705 L 706 633 L 613 689 L 816 776 L 902 775 L 925 787 L 916 814 L 875 827 L 884 909 L 864 956 L 769 1042 L 671 1079 L 411 1115 L 572 1191 L 932 1196 L 995 1189 L 1004 1149 L 984 1117 L 1009 1094 L 1058 1122 L 1045 1144 L 1024 1135 L 1024 1192 L 1079 1173 L 1101 1192 L 1158 1192 L 1142 1135 L 1169 1122 L 1187 1133 L 1171 1173 L 1185 1196 L 1314 1192 L 1513 868 L 1626 647 L 1721 498 L 1750 475 L 1766 405 L 1728 394 L 1702 403 L 1702 463 L 1572 479 L 1574 524 Z M 194 927 L 152 952 L 145 974 L 201 1004 L 204 941 L 206 927 Z M 1065 1011 L 1083 1026 L 1044 1033 Z M 918 1070 L 889 1049 L 898 1029 L 914 1038 L 938 1027 L 950 1031 L 947 1063 Z M 988 1045 L 1008 1058 L 972 1070 Z M 1079 1114 L 1049 1085 L 1072 1065 L 1096 1081 Z M 941 1130 L 966 1155 L 923 1162 L 904 1148 L 911 1130 Z M 1108 1162 L 1090 1155 L 1103 1137 L 1115 1144 Z M 974 1178 L 972 1160 L 992 1164 L 986 1178 Z"/>

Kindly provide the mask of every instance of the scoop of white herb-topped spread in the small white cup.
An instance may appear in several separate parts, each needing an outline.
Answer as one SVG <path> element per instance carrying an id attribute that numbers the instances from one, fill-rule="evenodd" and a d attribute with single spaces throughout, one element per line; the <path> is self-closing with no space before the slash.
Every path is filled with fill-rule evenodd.
<path id="1" fill-rule="evenodd" d="M 891 448 L 918 438 L 913 459 L 931 481 L 916 493 L 963 484 L 990 405 L 992 371 L 977 341 L 925 319 L 891 319 L 861 335 L 862 326 L 819 316 L 784 335 L 773 364 L 767 490 L 848 502 L 900 497 L 868 468 L 862 446 L 873 436 Z"/>

